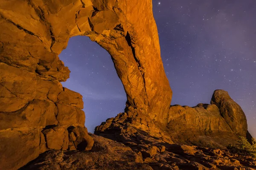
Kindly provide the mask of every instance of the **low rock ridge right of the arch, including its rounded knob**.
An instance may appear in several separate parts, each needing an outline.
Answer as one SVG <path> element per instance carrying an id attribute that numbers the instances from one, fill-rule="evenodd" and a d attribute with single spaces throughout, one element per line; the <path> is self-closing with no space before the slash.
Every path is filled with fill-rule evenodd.
<path id="1" fill-rule="evenodd" d="M 214 91 L 211 105 L 171 106 L 168 122 L 173 140 L 181 143 L 225 148 L 239 136 L 250 136 L 244 112 L 224 90 Z"/>

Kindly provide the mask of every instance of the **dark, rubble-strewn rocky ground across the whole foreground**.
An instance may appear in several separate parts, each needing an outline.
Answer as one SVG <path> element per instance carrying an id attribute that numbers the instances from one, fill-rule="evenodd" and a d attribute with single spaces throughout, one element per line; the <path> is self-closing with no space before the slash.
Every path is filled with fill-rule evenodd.
<path id="1" fill-rule="evenodd" d="M 228 150 L 169 144 L 143 133 L 122 144 L 90 134 L 90 151 L 50 150 L 20 170 L 255 170 L 256 159 Z"/>

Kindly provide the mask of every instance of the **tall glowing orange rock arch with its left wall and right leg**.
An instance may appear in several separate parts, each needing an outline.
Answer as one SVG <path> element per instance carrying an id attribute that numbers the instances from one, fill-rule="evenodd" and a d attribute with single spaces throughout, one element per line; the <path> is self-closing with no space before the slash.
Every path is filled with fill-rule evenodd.
<path id="1" fill-rule="evenodd" d="M 60 83 L 70 71 L 58 54 L 76 35 L 111 54 L 127 113 L 167 123 L 172 90 L 151 0 L 1 0 L 0 30 L 0 169 L 46 150 L 92 147 L 82 96 Z"/>

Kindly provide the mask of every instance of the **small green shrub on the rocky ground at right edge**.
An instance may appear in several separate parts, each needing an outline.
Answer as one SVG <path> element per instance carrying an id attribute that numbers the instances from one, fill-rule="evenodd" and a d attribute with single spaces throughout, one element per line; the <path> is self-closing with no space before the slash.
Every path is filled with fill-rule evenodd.
<path id="1" fill-rule="evenodd" d="M 244 156 L 251 156 L 256 158 L 256 139 L 252 139 L 252 144 L 250 144 L 247 139 L 243 136 L 239 136 L 239 140 L 236 140 L 236 145 L 228 145 L 228 149 L 233 153 L 238 153 Z"/>

